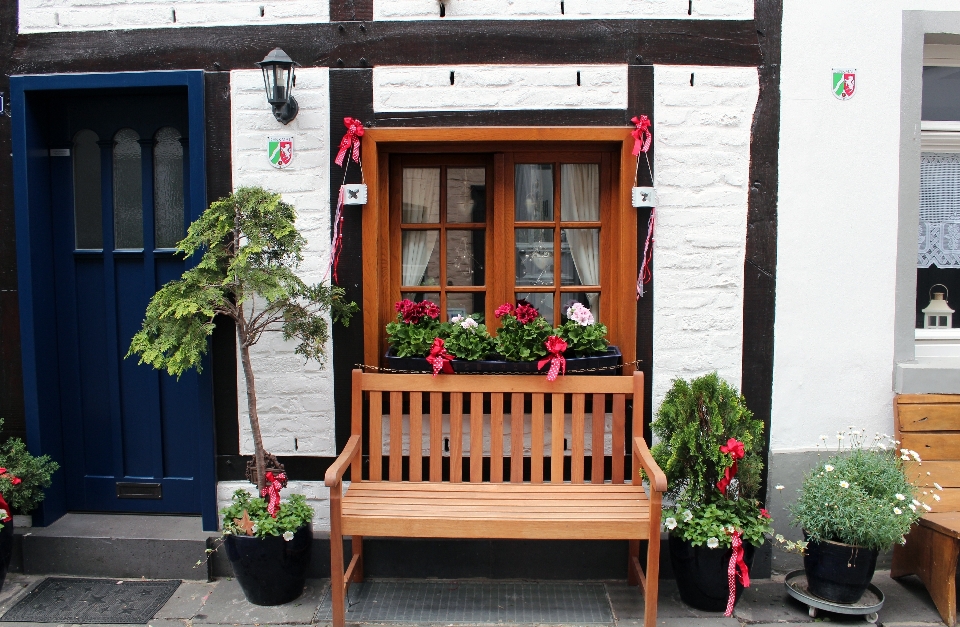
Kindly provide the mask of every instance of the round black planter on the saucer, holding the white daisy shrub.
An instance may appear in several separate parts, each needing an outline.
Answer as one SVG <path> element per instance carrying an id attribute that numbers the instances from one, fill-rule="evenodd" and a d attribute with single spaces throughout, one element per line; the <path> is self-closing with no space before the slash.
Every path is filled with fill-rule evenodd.
<path id="1" fill-rule="evenodd" d="M 810 592 L 834 603 L 856 603 L 866 592 L 879 551 L 840 542 L 807 542 L 803 570 Z"/>

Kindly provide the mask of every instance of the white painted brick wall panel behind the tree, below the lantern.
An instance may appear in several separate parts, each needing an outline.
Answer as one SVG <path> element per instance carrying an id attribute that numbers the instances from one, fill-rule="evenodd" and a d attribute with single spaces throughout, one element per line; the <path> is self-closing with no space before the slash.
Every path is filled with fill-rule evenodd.
<path id="1" fill-rule="evenodd" d="M 287 126 L 277 122 L 263 93 L 259 70 L 230 73 L 234 188 L 259 185 L 280 192 L 297 208 L 297 227 L 307 239 L 300 277 L 323 279 L 330 254 L 329 72 L 297 70 L 300 105 Z M 267 137 L 292 135 L 293 162 L 283 170 L 267 160 Z M 294 342 L 266 333 L 251 348 L 264 446 L 276 455 L 336 455 L 333 370 L 295 355 Z M 327 359 L 333 347 L 327 345 Z M 240 450 L 253 453 L 246 386 L 238 368 Z"/>

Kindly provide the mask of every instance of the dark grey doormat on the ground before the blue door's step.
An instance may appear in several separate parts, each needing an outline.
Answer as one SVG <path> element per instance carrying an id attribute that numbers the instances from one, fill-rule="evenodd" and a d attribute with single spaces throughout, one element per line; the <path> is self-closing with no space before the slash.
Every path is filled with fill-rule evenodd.
<path id="1" fill-rule="evenodd" d="M 146 623 L 179 586 L 178 580 L 47 577 L 0 620 L 81 625 Z"/>

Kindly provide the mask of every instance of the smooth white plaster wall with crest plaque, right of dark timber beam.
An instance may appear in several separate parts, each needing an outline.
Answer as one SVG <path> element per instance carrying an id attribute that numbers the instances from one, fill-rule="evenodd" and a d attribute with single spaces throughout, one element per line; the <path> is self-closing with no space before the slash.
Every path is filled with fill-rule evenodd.
<path id="1" fill-rule="evenodd" d="M 892 432 L 902 11 L 958 8 L 784 4 L 774 451 L 854 424 Z M 833 68 L 857 70 L 848 101 Z"/>

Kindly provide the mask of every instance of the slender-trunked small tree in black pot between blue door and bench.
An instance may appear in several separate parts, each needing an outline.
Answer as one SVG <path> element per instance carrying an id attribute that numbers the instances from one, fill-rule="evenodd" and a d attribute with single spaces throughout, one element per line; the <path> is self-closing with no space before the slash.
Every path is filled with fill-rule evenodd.
<path id="1" fill-rule="evenodd" d="M 312 513 L 302 496 L 280 503 L 286 475 L 263 447 L 250 347 L 264 333 L 277 331 L 284 339 L 299 342 L 297 354 L 322 366 L 328 317 L 347 324 L 357 311 L 355 303 L 344 302 L 342 289 L 307 285 L 297 276 L 305 240 L 295 220 L 294 208 L 280 194 L 256 187 L 238 189 L 211 204 L 177 245 L 184 256 L 198 255 L 198 263 L 150 299 L 143 328 L 127 353 L 128 357 L 138 355 L 140 363 L 179 376 L 189 368 L 200 368 L 215 316 L 225 315 L 236 323 L 254 445 L 247 477 L 268 500 L 235 494 L 233 504 L 223 512 L 224 532 L 252 534 L 256 551 L 263 554 L 262 559 L 248 559 L 249 553 L 231 550 L 234 542 L 227 539 L 234 573 L 247 599 L 257 604 L 285 603 L 302 594 L 303 578 L 296 576 L 278 578 L 287 586 L 283 590 L 273 585 L 261 590 L 266 585 L 261 571 L 290 566 L 291 547 L 304 546 L 304 559 L 309 560 Z"/>

